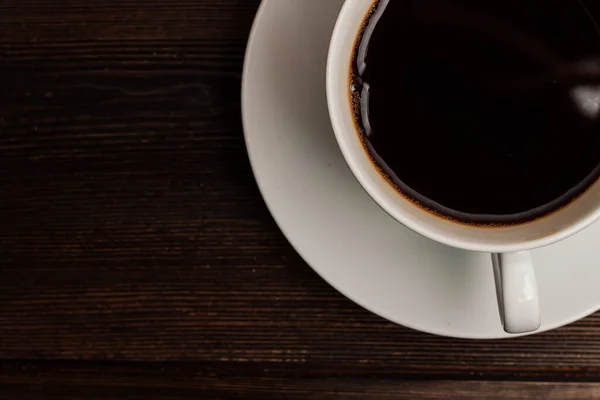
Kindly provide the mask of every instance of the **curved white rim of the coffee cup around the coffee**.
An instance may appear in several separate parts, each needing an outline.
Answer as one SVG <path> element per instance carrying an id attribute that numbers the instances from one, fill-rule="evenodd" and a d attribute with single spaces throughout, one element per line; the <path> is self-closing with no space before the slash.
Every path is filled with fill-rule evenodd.
<path id="1" fill-rule="evenodd" d="M 352 27 L 352 28 L 349 28 L 348 26 L 346 26 L 347 25 L 346 17 L 350 11 L 349 9 L 352 5 L 352 1 L 353 0 L 346 0 L 346 2 L 344 3 L 344 5 L 340 11 L 340 14 L 338 16 L 338 19 L 336 21 L 335 27 L 333 29 L 333 33 L 331 35 L 329 51 L 327 54 L 327 68 L 326 68 L 327 105 L 328 105 L 328 109 L 329 109 L 329 115 L 330 115 L 330 120 L 331 120 L 331 124 L 332 124 L 333 131 L 334 131 L 334 135 L 335 135 L 336 141 L 342 152 L 342 155 L 344 157 L 346 164 L 352 171 L 352 174 L 354 175 L 356 180 L 359 182 L 359 184 L 361 185 L 363 190 L 373 199 L 373 201 L 382 210 L 384 210 L 387 214 L 389 214 L 391 217 L 396 219 L 398 222 L 400 222 L 401 224 L 403 224 L 410 230 L 412 230 L 422 236 L 425 236 L 429 239 L 435 240 L 439 243 L 442 243 L 442 244 L 445 244 L 448 246 L 452 246 L 452 247 L 456 247 L 456 248 L 460 248 L 460 249 L 464 249 L 464 250 L 490 252 L 490 253 L 528 251 L 528 250 L 532 250 L 535 248 L 551 245 L 553 243 L 556 243 L 563 239 L 566 239 L 566 238 L 574 235 L 575 233 L 585 229 L 586 227 L 591 225 L 593 222 L 595 222 L 600 217 L 600 203 L 598 203 L 594 207 L 594 211 L 590 212 L 588 215 L 582 216 L 582 217 L 578 218 L 577 220 L 575 220 L 573 223 L 570 223 L 567 226 L 562 227 L 561 229 L 559 229 L 555 232 L 541 236 L 539 238 L 530 239 L 527 241 L 514 241 L 514 242 L 502 243 L 502 244 L 501 243 L 479 243 L 475 240 L 465 240 L 465 239 L 455 238 L 450 235 L 444 234 L 436 229 L 430 229 L 427 226 L 427 224 L 422 223 L 421 221 L 418 221 L 417 219 L 408 215 L 406 212 L 403 212 L 401 207 L 399 207 L 397 205 L 397 202 L 392 201 L 391 199 L 389 199 L 386 196 L 383 196 L 382 193 L 379 192 L 379 189 L 377 189 L 375 187 L 375 185 L 371 182 L 371 180 L 367 177 L 367 172 L 366 172 L 365 168 L 362 167 L 361 165 L 359 165 L 360 164 L 359 161 L 355 158 L 353 151 L 350 148 L 350 141 L 352 141 L 352 140 L 360 141 L 360 137 L 359 137 L 358 132 L 356 132 L 356 131 L 353 131 L 351 133 L 346 132 L 346 129 L 345 129 L 346 124 L 344 123 L 344 121 L 345 121 L 345 115 L 347 113 L 342 112 L 340 107 L 345 106 L 345 107 L 348 107 L 348 110 L 349 110 L 350 109 L 350 101 L 348 99 L 348 96 L 343 96 L 344 99 L 341 99 L 341 100 L 344 101 L 346 104 L 345 105 L 341 104 L 341 101 L 339 99 L 340 96 L 339 96 L 339 93 L 337 92 L 337 89 L 338 89 L 337 82 L 340 79 L 339 78 L 339 75 L 340 75 L 339 74 L 339 71 L 340 71 L 339 63 L 340 63 L 340 61 L 336 60 L 336 55 L 334 54 L 336 51 L 338 51 L 336 45 L 344 37 L 347 37 L 349 35 L 348 34 L 349 29 L 352 29 L 353 40 L 355 40 L 355 37 L 356 37 L 355 31 L 357 31 L 359 28 L 359 26 Z M 364 0 L 356 0 L 356 1 L 364 1 Z M 375 4 L 375 1 L 369 0 L 369 4 L 370 5 Z M 367 17 L 367 15 L 365 14 L 363 18 L 366 18 L 366 17 Z M 346 62 L 346 64 L 348 64 L 348 62 Z M 350 74 L 350 67 L 348 64 L 347 71 L 344 73 L 344 76 L 348 78 L 348 85 L 350 84 L 349 74 Z M 352 121 L 352 126 L 354 126 L 354 121 Z M 362 146 L 362 144 L 361 144 L 361 146 Z M 363 146 L 363 150 L 365 152 L 367 151 L 366 149 L 364 149 L 364 146 Z M 371 163 L 372 163 L 372 161 L 371 161 Z M 376 167 L 373 165 L 373 168 L 376 168 Z M 381 174 L 379 172 L 378 172 L 378 175 L 380 176 L 381 179 L 385 180 L 385 178 L 383 176 L 381 176 Z M 590 188 L 597 184 L 600 184 L 600 178 L 596 179 L 596 181 L 590 186 Z M 402 198 L 402 195 L 400 195 L 399 193 L 396 193 L 396 194 L 398 196 L 398 199 Z M 555 213 L 562 212 L 563 210 L 570 207 L 573 203 L 576 203 L 577 201 L 578 201 L 578 199 L 576 199 L 571 204 L 563 206 L 559 210 L 555 211 Z M 421 209 L 420 207 L 417 207 L 417 206 L 414 206 L 414 207 L 417 208 L 420 213 L 432 215 L 431 213 L 428 213 L 427 211 Z M 547 217 L 548 217 L 548 215 L 541 217 L 541 219 L 547 218 Z M 504 227 L 484 227 L 484 226 L 468 226 L 468 225 L 461 224 L 460 222 L 449 221 L 449 220 L 447 222 L 451 223 L 451 224 L 456 224 L 457 226 L 467 227 L 467 228 L 474 229 L 474 230 L 511 229 L 511 228 L 516 228 L 516 227 L 520 227 L 520 226 L 527 224 L 527 223 L 516 224 L 514 226 L 504 226 Z M 529 223 L 535 223 L 535 221 L 532 221 Z"/>

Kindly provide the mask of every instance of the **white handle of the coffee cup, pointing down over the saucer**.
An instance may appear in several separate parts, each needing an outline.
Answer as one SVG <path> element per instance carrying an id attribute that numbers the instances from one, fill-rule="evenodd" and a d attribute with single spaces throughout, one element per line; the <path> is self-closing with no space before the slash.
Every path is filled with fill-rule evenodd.
<path id="1" fill-rule="evenodd" d="M 492 254 L 500 319 L 507 333 L 526 333 L 541 325 L 531 253 Z"/>

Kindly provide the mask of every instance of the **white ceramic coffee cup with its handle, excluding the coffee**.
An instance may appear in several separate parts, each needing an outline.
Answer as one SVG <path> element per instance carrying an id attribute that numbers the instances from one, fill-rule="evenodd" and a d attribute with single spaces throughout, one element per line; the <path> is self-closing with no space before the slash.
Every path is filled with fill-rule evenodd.
<path id="1" fill-rule="evenodd" d="M 346 162 L 373 200 L 406 227 L 449 246 L 491 253 L 500 318 L 505 331 L 525 333 L 537 330 L 541 316 L 530 251 L 565 239 L 600 217 L 598 181 L 576 200 L 550 215 L 533 222 L 497 228 L 469 226 L 440 218 L 400 195 L 369 158 L 350 107 L 353 50 L 373 5 L 373 0 L 346 0 L 329 49 L 327 100 L 335 136 Z M 399 115 L 401 112 L 398 110 Z M 515 143 L 515 146 L 518 145 Z M 532 190 L 535 190 L 535 182 Z M 543 265 L 538 267 L 544 268 Z M 569 266 L 565 265 L 565 268 Z"/>

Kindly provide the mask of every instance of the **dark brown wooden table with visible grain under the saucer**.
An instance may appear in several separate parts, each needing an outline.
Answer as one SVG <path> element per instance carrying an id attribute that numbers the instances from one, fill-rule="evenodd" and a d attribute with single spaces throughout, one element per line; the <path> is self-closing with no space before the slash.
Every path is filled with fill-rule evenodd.
<path id="1" fill-rule="evenodd" d="M 258 5 L 0 2 L 0 398 L 600 398 L 600 315 L 439 338 L 292 250 L 240 120 Z"/>

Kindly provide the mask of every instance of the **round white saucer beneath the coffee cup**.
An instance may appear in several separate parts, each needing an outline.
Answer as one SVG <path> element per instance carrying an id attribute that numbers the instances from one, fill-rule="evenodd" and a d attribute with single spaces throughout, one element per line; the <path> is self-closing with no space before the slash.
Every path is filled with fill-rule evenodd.
<path id="1" fill-rule="evenodd" d="M 325 63 L 343 0 L 263 0 L 243 82 L 248 152 L 288 240 L 327 282 L 363 307 L 421 331 L 462 338 L 502 330 L 488 254 L 425 239 L 363 192 L 335 142 Z M 600 308 L 600 223 L 533 253 L 540 331 Z"/>

